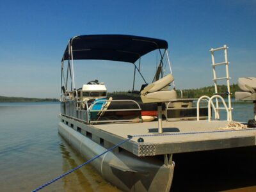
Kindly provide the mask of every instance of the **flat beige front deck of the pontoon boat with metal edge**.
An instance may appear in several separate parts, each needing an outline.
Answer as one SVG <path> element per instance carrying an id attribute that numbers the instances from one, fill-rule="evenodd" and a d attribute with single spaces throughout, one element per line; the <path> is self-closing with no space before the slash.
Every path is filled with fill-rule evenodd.
<path id="1" fill-rule="evenodd" d="M 163 134 L 158 133 L 157 122 L 138 124 L 93 125 L 98 131 L 108 133 L 110 138 L 127 138 L 124 148 L 136 156 L 155 156 L 200 150 L 246 147 L 256 145 L 256 129 L 223 130 L 227 121 L 163 121 Z M 139 143 L 138 138 L 144 142 Z M 115 141 L 115 140 L 111 140 Z M 116 143 L 114 143 L 116 144 Z"/>

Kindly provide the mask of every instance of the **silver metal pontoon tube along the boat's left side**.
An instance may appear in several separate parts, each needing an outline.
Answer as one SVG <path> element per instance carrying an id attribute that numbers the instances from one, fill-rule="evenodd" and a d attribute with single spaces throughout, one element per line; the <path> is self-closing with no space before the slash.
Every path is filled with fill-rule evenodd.
<path id="1" fill-rule="evenodd" d="M 58 132 L 86 159 L 92 159 L 107 149 L 62 122 Z M 102 177 L 123 191 L 170 191 L 174 163 L 165 165 L 161 159 L 137 157 L 125 150 L 115 150 L 91 163 Z"/>

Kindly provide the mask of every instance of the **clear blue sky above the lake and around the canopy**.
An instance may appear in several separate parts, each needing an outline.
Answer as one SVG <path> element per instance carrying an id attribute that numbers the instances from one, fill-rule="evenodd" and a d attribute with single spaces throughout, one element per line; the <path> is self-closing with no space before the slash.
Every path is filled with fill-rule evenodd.
<path id="1" fill-rule="evenodd" d="M 230 47 L 231 82 L 255 76 L 255 0 L 9 0 L 1 2 L 0 13 L 0 95 L 59 97 L 61 57 L 75 35 L 128 34 L 167 40 L 180 89 L 212 85 L 209 49 L 224 44 Z M 77 63 L 77 87 L 98 78 L 109 91 L 132 88 L 130 65 L 96 64 L 85 68 Z M 154 70 L 156 59 L 147 65 Z M 97 77 L 92 76 L 95 69 Z"/>

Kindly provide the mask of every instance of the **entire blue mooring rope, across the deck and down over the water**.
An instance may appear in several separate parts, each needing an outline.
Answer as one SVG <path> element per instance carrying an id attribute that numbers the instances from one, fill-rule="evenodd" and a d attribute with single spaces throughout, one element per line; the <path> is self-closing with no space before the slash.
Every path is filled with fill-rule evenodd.
<path id="1" fill-rule="evenodd" d="M 173 133 L 161 133 L 161 134 L 135 134 L 133 136 L 128 135 L 126 140 L 121 141 L 120 143 L 114 145 L 113 147 L 109 148 L 108 150 L 106 150 L 105 152 L 103 152 L 102 154 L 99 154 L 98 156 L 93 157 L 92 159 L 84 162 L 83 164 L 80 164 L 79 166 L 77 166 L 76 168 L 73 168 L 72 170 L 63 173 L 62 175 L 60 175 L 59 177 L 56 177 L 55 179 L 50 180 L 49 182 L 43 184 L 42 186 L 36 188 L 33 190 L 33 192 L 39 191 L 43 188 L 45 188 L 46 186 L 49 186 L 50 184 L 52 184 L 53 182 L 56 182 L 57 180 L 61 179 L 62 177 L 65 177 L 66 175 L 78 170 L 79 168 L 81 168 L 82 166 L 91 163 L 93 160 L 99 158 L 100 156 L 106 154 L 107 152 L 112 151 L 113 149 L 115 149 L 116 147 L 119 147 L 120 145 L 122 145 L 123 143 L 131 140 L 132 138 L 135 137 L 151 137 L 151 136 L 174 136 L 174 135 L 186 135 L 186 134 L 204 134 L 204 133 L 214 133 L 214 132 L 236 132 L 236 131 L 252 131 L 255 129 L 239 129 L 239 130 L 223 130 L 223 131 L 199 131 L 199 132 L 173 132 Z"/>

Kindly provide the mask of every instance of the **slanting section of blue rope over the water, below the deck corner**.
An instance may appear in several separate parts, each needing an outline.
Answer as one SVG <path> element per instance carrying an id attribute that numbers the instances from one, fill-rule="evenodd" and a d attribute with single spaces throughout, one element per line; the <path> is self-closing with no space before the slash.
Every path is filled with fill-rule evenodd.
<path id="1" fill-rule="evenodd" d="M 131 140 L 131 139 L 132 139 L 132 136 L 131 136 L 131 137 L 128 137 L 126 140 L 124 140 L 124 141 L 122 141 L 122 142 L 116 144 L 115 146 L 109 148 L 108 150 L 106 150 L 106 151 L 103 152 L 102 154 L 99 154 L 98 156 L 93 157 L 92 159 L 90 159 L 90 160 L 84 162 L 83 164 L 80 164 L 80 165 L 77 166 L 76 168 L 73 168 L 72 170 L 70 170 L 70 171 L 68 171 L 68 172 L 66 172 L 66 173 L 63 173 L 63 174 L 60 175 L 59 177 L 56 177 L 55 179 L 52 179 L 52 180 L 50 180 L 49 182 L 43 184 L 42 186 L 40 186 L 40 187 L 34 189 L 33 192 L 39 191 L 39 190 L 45 188 L 46 186 L 49 186 L 49 184 L 52 184 L 53 182 L 56 182 L 57 180 L 61 179 L 62 177 L 65 177 L 66 175 L 68 175 L 68 174 L 70 174 L 70 173 L 72 173 L 72 172 L 78 170 L 78 169 L 81 168 L 82 166 L 84 166 L 84 165 L 86 165 L 86 164 L 88 164 L 88 163 L 91 163 L 93 160 L 99 158 L 100 156 L 106 154 L 107 152 L 113 150 L 114 148 L 116 148 L 116 147 L 122 145 L 123 143 L 125 143 L 125 142 L 127 142 L 127 141 L 129 141 L 129 140 Z"/>

